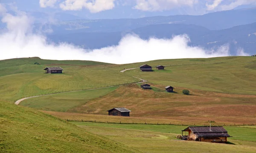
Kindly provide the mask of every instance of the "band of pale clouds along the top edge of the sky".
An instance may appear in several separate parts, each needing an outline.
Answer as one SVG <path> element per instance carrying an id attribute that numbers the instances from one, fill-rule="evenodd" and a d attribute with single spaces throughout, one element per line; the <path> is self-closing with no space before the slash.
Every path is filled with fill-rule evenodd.
<path id="1" fill-rule="evenodd" d="M 54 7 L 57 3 L 62 10 L 87 9 L 91 13 L 111 10 L 116 4 L 131 3 L 141 11 L 165 11 L 171 9 L 195 9 L 197 12 L 224 11 L 241 5 L 256 5 L 256 0 L 39 0 L 42 8 Z"/>

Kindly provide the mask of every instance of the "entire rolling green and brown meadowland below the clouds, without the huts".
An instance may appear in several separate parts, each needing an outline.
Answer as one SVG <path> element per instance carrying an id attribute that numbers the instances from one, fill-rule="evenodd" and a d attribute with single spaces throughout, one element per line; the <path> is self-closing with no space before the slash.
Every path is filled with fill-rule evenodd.
<path id="1" fill-rule="evenodd" d="M 38 62 L 41 65 L 35 65 Z M 165 65 L 166 70 L 140 72 L 142 64 Z M 47 66 L 61 66 L 63 74 L 44 74 Z M 93 61 L 52 61 L 20 58 L 0 61 L 0 101 L 51 92 L 72 91 L 139 81 L 139 84 L 59 93 L 27 99 L 15 106 L 0 102 L 0 149 L 3 152 L 233 152 L 256 150 L 256 59 L 222 57 L 157 60 L 135 64 L 106 64 Z M 177 93 L 167 93 L 171 85 Z M 183 95 L 189 89 L 191 95 Z M 131 117 L 108 116 L 107 110 L 126 107 Z M 56 117 L 52 117 L 51 114 Z M 64 120 L 147 123 L 104 124 Z M 231 144 L 177 141 L 189 124 L 225 126 Z M 77 127 L 82 127 L 81 129 Z M 170 132 L 170 133 L 169 133 Z M 94 134 L 91 134 L 94 133 Z M 96 135 L 97 134 L 97 135 Z M 100 135 L 100 136 L 98 136 Z M 103 136 L 103 137 L 102 137 Z M 113 150 L 113 148 L 115 148 Z M 200 149 L 199 149 L 200 148 Z M 0 150 L 0 152 L 2 151 Z"/>

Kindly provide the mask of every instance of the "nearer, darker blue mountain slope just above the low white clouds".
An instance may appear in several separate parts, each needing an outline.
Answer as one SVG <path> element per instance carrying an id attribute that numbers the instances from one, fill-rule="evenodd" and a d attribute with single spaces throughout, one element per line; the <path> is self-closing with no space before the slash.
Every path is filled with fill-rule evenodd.
<path id="1" fill-rule="evenodd" d="M 232 55 L 236 50 L 244 48 L 250 54 L 256 48 L 256 23 L 236 26 L 224 30 L 209 30 L 202 26 L 187 24 L 156 24 L 132 29 L 126 32 L 84 32 L 48 35 L 49 40 L 67 42 L 84 48 L 98 49 L 106 46 L 117 45 L 121 38 L 134 33 L 140 38 L 172 38 L 173 35 L 187 34 L 191 39 L 189 45 L 214 49 L 224 44 L 230 44 Z"/>

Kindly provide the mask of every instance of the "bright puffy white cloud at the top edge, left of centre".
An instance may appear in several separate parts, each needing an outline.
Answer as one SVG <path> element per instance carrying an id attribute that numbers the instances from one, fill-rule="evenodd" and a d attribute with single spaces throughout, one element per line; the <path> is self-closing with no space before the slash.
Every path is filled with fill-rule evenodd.
<path id="1" fill-rule="evenodd" d="M 63 10 L 81 10 L 88 9 L 91 13 L 97 13 L 110 10 L 115 7 L 115 0 L 65 0 L 60 3 Z"/>

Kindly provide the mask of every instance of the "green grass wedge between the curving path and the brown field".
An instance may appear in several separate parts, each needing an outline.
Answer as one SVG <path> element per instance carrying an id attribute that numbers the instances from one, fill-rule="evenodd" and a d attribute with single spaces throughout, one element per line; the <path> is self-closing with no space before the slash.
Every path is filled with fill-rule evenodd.
<path id="1" fill-rule="evenodd" d="M 20 105 L 57 112 L 67 112 L 74 107 L 85 104 L 94 98 L 113 92 L 117 87 L 84 90 L 79 92 L 60 93 L 57 95 L 45 95 L 38 98 L 30 98 L 22 101 Z"/>

